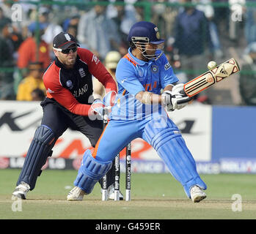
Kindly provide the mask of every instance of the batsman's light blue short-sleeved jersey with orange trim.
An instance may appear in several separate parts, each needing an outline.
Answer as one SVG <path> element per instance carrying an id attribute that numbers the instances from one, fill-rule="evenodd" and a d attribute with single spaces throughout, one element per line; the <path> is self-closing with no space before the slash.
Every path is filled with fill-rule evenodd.
<path id="1" fill-rule="evenodd" d="M 111 119 L 139 119 L 161 111 L 161 105 L 145 105 L 135 98 L 140 91 L 161 94 L 161 89 L 178 82 L 167 57 L 158 60 L 136 59 L 129 48 L 128 53 L 117 64 L 116 79 L 118 94 L 111 109 Z"/>

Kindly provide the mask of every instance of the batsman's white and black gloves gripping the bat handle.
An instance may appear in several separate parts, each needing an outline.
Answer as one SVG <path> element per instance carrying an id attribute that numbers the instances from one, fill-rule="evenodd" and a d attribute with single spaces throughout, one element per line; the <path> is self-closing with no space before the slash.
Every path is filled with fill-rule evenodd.
<path id="1" fill-rule="evenodd" d="M 172 91 L 164 91 L 161 95 L 163 104 L 167 106 L 168 111 L 180 110 L 188 105 L 191 99 L 193 99 L 192 97 L 188 97 L 184 94 L 183 86 L 183 83 L 179 83 L 177 86 L 172 88 Z"/>

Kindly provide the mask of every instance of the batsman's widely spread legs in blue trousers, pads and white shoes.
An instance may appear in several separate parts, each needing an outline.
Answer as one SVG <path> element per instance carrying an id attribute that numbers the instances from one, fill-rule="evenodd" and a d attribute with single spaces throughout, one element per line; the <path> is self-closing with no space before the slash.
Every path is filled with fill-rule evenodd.
<path id="1" fill-rule="evenodd" d="M 113 135 L 113 132 L 115 133 Z M 75 187 L 67 200 L 78 200 L 79 195 L 92 192 L 97 180 L 111 167 L 111 162 L 122 148 L 137 137 L 147 141 L 163 159 L 170 173 L 182 184 L 187 197 L 199 202 L 206 197 L 205 183 L 197 173 L 196 163 L 186 146 L 178 127 L 163 112 L 134 121 L 111 120 L 98 141 L 95 151 L 84 153 Z M 108 140 L 108 139 L 111 139 Z"/>

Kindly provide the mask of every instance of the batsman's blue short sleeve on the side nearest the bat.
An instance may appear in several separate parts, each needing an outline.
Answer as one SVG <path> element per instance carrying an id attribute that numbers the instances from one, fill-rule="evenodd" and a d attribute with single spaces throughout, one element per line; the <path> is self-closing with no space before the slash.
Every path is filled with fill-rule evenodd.
<path id="1" fill-rule="evenodd" d="M 167 60 L 167 56 L 163 54 L 159 58 L 159 62 L 161 63 L 161 74 L 160 74 L 160 83 L 161 88 L 164 88 L 165 86 L 178 82 L 178 78 L 175 75 L 175 73 L 172 70 L 172 66 L 169 64 L 169 61 Z"/>

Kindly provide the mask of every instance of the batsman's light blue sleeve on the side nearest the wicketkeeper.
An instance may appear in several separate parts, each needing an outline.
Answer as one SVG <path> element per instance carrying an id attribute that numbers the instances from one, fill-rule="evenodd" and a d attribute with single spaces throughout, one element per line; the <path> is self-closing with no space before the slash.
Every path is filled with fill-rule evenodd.
<path id="1" fill-rule="evenodd" d="M 119 93 L 126 90 L 128 93 L 136 95 L 140 91 L 145 91 L 137 78 L 134 65 L 126 59 L 121 59 L 117 64 L 116 79 L 118 86 L 121 87 Z"/>

